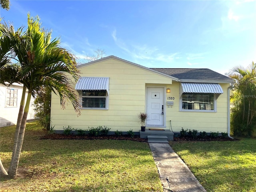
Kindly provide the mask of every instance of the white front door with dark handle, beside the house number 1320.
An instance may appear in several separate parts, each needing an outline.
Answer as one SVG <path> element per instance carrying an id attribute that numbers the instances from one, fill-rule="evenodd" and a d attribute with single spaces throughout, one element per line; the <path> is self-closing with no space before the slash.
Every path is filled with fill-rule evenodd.
<path id="1" fill-rule="evenodd" d="M 164 126 L 164 88 L 147 88 L 147 126 Z"/>

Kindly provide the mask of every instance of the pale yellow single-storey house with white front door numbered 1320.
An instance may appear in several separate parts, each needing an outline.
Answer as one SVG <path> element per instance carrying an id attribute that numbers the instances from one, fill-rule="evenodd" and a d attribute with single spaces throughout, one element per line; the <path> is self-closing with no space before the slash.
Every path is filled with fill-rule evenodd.
<path id="1" fill-rule="evenodd" d="M 71 105 L 62 110 L 58 96 L 52 94 L 51 125 L 57 131 L 66 126 L 107 126 L 112 133 L 139 134 L 138 114 L 146 112 L 146 129 L 229 134 L 233 80 L 222 74 L 210 69 L 146 68 L 115 56 L 78 68 L 81 78 L 74 87 L 82 115 L 77 117 Z"/>

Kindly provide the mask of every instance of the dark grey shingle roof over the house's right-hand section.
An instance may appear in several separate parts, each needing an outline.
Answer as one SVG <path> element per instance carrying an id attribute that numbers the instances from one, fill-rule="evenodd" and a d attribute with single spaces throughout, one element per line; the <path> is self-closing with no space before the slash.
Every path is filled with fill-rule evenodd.
<path id="1" fill-rule="evenodd" d="M 188 69 L 188 68 L 151 68 L 158 72 L 176 77 L 178 79 L 190 79 L 190 80 L 216 80 L 216 81 L 232 81 L 232 79 L 219 74 L 210 69 Z"/>

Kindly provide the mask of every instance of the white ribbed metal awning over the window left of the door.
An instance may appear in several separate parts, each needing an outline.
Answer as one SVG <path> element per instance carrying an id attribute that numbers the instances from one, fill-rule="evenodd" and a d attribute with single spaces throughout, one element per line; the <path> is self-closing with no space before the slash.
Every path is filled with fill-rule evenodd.
<path id="1" fill-rule="evenodd" d="M 76 90 L 106 90 L 108 92 L 108 77 L 81 77 L 76 83 Z"/>

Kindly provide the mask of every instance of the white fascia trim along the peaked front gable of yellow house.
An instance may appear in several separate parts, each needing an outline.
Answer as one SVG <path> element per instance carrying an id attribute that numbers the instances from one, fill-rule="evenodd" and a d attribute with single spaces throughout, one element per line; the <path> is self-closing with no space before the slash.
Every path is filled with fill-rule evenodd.
<path id="1" fill-rule="evenodd" d="M 172 79 L 172 80 L 174 80 L 174 81 L 179 81 L 179 79 L 176 78 L 176 77 L 173 77 L 173 76 L 164 74 L 164 73 L 162 73 L 162 72 L 158 72 L 158 71 L 156 71 L 156 70 L 152 70 L 152 69 L 150 69 L 150 68 L 147 68 L 147 67 L 144 67 L 144 66 L 142 66 L 142 65 L 139 65 L 139 64 L 136 64 L 136 63 L 133 63 L 133 62 L 130 62 L 130 61 L 127 61 L 127 60 L 118 58 L 118 57 L 116 57 L 116 56 L 108 56 L 108 57 L 104 57 L 104 58 L 102 58 L 102 59 L 95 60 L 95 61 L 92 61 L 92 62 L 89 62 L 89 63 L 81 64 L 81 65 L 79 65 L 77 68 L 82 68 L 82 67 L 84 67 L 84 66 L 90 66 L 90 65 L 93 65 L 93 64 L 95 64 L 95 63 L 102 62 L 102 61 L 104 61 L 104 60 L 109 60 L 109 59 L 114 59 L 114 60 L 122 61 L 122 62 L 125 62 L 125 63 L 127 63 L 127 64 L 130 64 L 130 65 L 133 65 L 133 66 L 142 68 L 142 69 L 144 69 L 144 70 L 148 70 L 148 71 L 150 71 L 150 72 L 154 72 L 154 73 L 156 73 L 156 74 L 165 76 L 165 77 L 170 78 L 170 79 Z"/>

